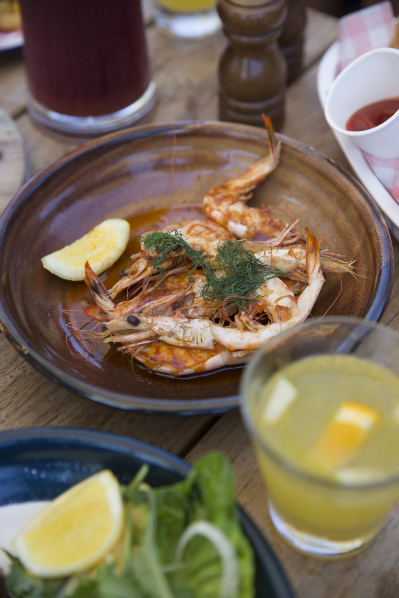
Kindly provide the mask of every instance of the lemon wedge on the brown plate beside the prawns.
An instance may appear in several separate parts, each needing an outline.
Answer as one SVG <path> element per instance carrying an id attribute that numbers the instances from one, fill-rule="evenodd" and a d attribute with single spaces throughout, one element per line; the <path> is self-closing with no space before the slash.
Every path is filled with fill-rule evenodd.
<path id="1" fill-rule="evenodd" d="M 112 266 L 126 249 L 130 224 L 122 218 L 108 218 L 72 245 L 41 258 L 45 269 L 66 280 L 84 280 L 89 261 L 96 274 Z"/>

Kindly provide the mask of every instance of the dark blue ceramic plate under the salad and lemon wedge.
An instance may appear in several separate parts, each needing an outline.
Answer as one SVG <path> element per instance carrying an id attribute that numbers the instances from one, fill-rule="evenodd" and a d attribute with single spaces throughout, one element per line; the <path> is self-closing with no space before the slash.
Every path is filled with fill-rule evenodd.
<path id="1" fill-rule="evenodd" d="M 126 484 L 143 462 L 150 466 L 151 486 L 172 484 L 191 469 L 182 459 L 150 444 L 105 432 L 71 428 L 2 432 L 0 505 L 53 499 L 104 468 Z M 242 509 L 239 514 L 255 553 L 256 598 L 294 598 L 266 540 Z"/>

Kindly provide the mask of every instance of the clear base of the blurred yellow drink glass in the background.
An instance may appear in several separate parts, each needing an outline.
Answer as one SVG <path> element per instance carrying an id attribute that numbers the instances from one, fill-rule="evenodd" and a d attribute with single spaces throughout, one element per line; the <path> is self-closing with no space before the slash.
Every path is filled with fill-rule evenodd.
<path id="1" fill-rule="evenodd" d="M 215 8 L 200 13 L 168 13 L 158 7 L 156 25 L 173 38 L 202 39 L 216 33 L 222 22 Z"/>

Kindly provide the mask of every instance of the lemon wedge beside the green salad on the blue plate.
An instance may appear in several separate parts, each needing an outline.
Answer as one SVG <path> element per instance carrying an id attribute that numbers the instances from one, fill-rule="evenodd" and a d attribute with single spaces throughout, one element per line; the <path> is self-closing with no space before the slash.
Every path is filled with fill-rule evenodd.
<path id="1" fill-rule="evenodd" d="M 108 469 L 58 496 L 14 540 L 17 556 L 34 575 L 64 577 L 92 568 L 120 538 L 123 502 Z"/>

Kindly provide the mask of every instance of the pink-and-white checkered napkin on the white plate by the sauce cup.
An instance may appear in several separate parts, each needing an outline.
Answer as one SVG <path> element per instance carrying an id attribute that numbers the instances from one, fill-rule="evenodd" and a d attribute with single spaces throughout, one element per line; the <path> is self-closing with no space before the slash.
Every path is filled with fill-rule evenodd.
<path id="1" fill-rule="evenodd" d="M 389 46 L 394 33 L 394 11 L 390 0 L 342 17 L 339 22 L 339 72 L 368 50 Z M 366 152 L 363 155 L 374 174 L 399 203 L 399 158 L 379 158 Z"/>

